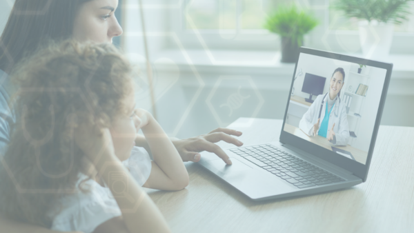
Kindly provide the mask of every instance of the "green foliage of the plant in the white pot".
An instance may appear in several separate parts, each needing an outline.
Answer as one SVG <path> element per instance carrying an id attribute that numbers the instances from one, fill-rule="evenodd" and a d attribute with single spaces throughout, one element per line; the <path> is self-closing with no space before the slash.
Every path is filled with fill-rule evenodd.
<path id="1" fill-rule="evenodd" d="M 408 20 L 411 14 L 408 6 L 411 1 L 413 0 L 337 0 L 333 8 L 344 12 L 347 17 L 400 24 Z"/>

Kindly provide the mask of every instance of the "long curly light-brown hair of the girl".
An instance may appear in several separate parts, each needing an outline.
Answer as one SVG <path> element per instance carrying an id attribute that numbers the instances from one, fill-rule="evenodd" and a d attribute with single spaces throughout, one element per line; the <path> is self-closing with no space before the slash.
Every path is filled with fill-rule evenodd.
<path id="1" fill-rule="evenodd" d="M 12 75 L 19 120 L 0 169 L 1 212 L 50 227 L 48 211 L 77 190 L 83 172 L 74 130 L 109 128 L 117 114 L 126 114 L 130 72 L 112 45 L 75 41 L 52 44 L 19 65 Z"/>

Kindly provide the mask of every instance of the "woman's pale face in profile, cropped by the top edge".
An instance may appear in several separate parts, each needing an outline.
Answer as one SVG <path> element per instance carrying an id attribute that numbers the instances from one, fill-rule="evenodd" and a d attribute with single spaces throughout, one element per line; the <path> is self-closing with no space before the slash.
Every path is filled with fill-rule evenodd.
<path id="1" fill-rule="evenodd" d="M 73 37 L 79 41 L 112 43 L 122 34 L 115 18 L 118 0 L 92 0 L 83 3 L 73 26 Z"/>

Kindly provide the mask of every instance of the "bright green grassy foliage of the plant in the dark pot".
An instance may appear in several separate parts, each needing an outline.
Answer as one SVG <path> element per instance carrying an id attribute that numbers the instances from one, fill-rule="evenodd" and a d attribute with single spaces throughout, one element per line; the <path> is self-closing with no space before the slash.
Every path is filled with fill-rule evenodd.
<path id="1" fill-rule="evenodd" d="M 270 32 L 287 37 L 297 45 L 302 45 L 304 34 L 318 24 L 313 15 L 299 10 L 295 5 L 279 7 L 276 12 L 266 19 L 264 28 Z"/>

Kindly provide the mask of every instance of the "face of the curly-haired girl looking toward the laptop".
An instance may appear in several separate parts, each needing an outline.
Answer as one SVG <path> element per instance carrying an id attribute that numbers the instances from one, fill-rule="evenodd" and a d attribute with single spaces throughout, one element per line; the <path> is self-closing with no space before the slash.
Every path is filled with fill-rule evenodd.
<path id="1" fill-rule="evenodd" d="M 109 129 L 114 143 L 115 154 L 124 161 L 129 158 L 132 148 L 135 146 L 135 138 L 141 125 L 141 119 L 135 114 L 134 94 L 126 99 L 128 112 L 119 114 L 112 122 Z"/>

